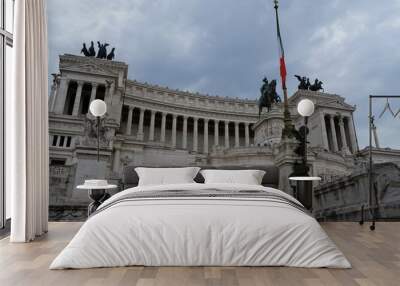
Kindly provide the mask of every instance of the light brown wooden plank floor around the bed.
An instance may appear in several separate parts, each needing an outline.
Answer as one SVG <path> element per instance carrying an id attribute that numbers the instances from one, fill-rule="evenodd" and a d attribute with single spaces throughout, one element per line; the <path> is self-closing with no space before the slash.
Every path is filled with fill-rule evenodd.
<path id="1" fill-rule="evenodd" d="M 48 270 L 81 223 L 50 223 L 49 233 L 28 244 L 0 241 L 0 285 L 400 285 L 400 222 L 368 225 L 322 223 L 352 269 L 289 267 L 123 267 Z"/>

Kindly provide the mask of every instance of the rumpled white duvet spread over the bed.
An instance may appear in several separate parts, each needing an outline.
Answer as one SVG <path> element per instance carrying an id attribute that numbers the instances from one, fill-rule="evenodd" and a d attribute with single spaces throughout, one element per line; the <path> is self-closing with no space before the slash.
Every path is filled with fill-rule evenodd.
<path id="1" fill-rule="evenodd" d="M 258 199 L 176 198 L 123 201 L 130 192 L 263 190 L 233 184 L 135 187 L 104 202 L 50 269 L 145 266 L 294 266 L 349 268 L 318 222 L 293 206 Z M 108 207 L 107 207 L 108 205 Z"/>

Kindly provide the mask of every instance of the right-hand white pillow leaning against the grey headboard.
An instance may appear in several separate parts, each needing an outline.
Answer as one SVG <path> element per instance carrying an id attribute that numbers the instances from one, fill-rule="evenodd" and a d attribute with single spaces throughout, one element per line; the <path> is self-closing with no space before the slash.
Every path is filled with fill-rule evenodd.
<path id="1" fill-rule="evenodd" d="M 261 185 L 265 171 L 261 170 L 201 170 L 204 183 Z"/>

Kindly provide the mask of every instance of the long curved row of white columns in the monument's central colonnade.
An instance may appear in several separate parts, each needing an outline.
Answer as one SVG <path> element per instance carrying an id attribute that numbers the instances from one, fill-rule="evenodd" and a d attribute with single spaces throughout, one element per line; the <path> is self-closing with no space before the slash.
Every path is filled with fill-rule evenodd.
<path id="1" fill-rule="evenodd" d="M 132 135 L 132 118 L 133 118 L 133 109 L 134 106 L 129 106 L 128 108 L 128 122 L 126 125 L 126 130 L 125 130 L 125 135 Z M 137 139 L 138 140 L 143 140 L 144 139 L 144 132 L 143 132 L 143 126 L 144 126 L 144 112 L 145 109 L 141 108 L 140 109 L 140 115 L 139 115 L 139 124 L 138 124 L 138 131 L 137 131 Z M 154 129 L 155 129 L 155 116 L 156 116 L 157 111 L 151 110 L 151 117 L 150 117 L 150 130 L 149 130 L 149 140 L 154 141 Z M 182 115 L 183 117 L 183 128 L 182 128 L 182 148 L 187 149 L 187 122 L 189 116 L 187 115 Z M 198 117 L 192 117 L 193 118 L 193 151 L 197 152 L 198 151 L 198 120 L 200 118 Z M 173 148 L 176 147 L 176 127 L 177 127 L 177 120 L 178 120 L 178 115 L 177 114 L 172 114 L 172 135 L 171 135 L 171 146 Z M 160 141 L 162 143 L 165 142 L 165 131 L 166 131 L 166 121 L 167 121 L 167 113 L 161 112 L 161 134 L 160 134 Z M 209 124 L 209 119 L 205 118 L 203 119 L 204 124 L 204 153 L 208 153 L 208 124 Z M 230 121 L 224 121 L 225 122 L 225 147 L 229 148 L 229 122 Z M 240 141 L 239 141 L 239 122 L 235 121 L 235 147 L 240 146 Z M 245 125 L 245 146 L 248 147 L 250 145 L 250 124 L 248 122 L 244 123 Z M 214 120 L 214 145 L 218 146 L 219 145 L 219 120 L 215 119 Z"/>

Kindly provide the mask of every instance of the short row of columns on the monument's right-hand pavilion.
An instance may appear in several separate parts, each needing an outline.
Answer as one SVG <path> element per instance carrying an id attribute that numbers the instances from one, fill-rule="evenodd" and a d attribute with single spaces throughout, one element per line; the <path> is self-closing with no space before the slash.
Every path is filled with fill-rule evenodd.
<path id="1" fill-rule="evenodd" d="M 335 126 L 335 118 L 338 119 L 338 126 L 339 126 L 339 134 L 336 132 L 336 126 Z M 335 116 L 332 114 L 322 114 L 322 141 L 323 144 L 326 148 L 329 148 L 329 143 L 328 143 L 328 134 L 326 131 L 326 125 L 329 125 L 330 130 L 331 130 L 331 145 L 332 145 L 332 151 L 333 152 L 338 152 L 338 151 L 343 151 L 343 152 L 349 152 L 349 146 L 347 144 L 347 137 L 346 137 L 346 130 L 345 130 L 345 124 L 344 124 L 344 116 Z M 327 120 L 327 121 L 326 121 Z M 351 149 L 353 152 L 356 151 L 357 149 L 357 142 L 355 139 L 355 131 L 354 127 L 352 124 L 352 119 L 351 117 L 347 117 L 347 129 L 349 131 L 349 141 L 351 144 Z M 339 148 L 339 140 L 341 142 L 341 148 Z M 340 150 L 339 150 L 340 149 Z"/>

